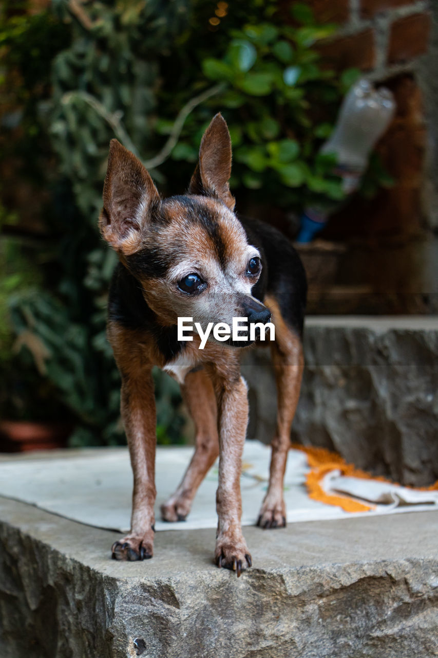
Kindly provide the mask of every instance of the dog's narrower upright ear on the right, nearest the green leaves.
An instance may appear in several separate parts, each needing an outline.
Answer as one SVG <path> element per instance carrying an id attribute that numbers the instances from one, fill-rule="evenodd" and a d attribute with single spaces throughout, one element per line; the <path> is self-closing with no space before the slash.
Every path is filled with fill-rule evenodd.
<path id="1" fill-rule="evenodd" d="M 199 161 L 191 177 L 189 194 L 216 197 L 233 210 L 235 199 L 228 181 L 231 176 L 231 139 L 226 120 L 218 113 L 201 139 Z"/>

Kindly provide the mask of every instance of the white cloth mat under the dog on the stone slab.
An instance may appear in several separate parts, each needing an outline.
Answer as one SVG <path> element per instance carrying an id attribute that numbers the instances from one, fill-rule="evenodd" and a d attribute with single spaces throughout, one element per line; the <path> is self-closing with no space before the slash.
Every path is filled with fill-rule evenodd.
<path id="1" fill-rule="evenodd" d="M 160 505 L 174 492 L 189 463 L 193 447 L 158 447 L 156 484 L 157 505 L 155 528 L 157 530 L 188 530 L 215 528 L 217 464 L 208 472 L 199 488 L 192 511 L 183 523 L 167 523 L 160 520 Z M 255 441 L 245 443 L 241 491 L 244 525 L 256 522 L 260 504 L 266 492 L 270 448 Z M 412 505 L 397 507 L 391 499 L 389 504 L 379 504 L 366 513 L 346 513 L 339 507 L 311 500 L 304 486 L 308 472 L 306 455 L 298 450 L 289 451 L 285 474 L 285 502 L 288 522 L 340 519 L 351 516 L 412 511 Z M 331 474 L 329 474 L 331 475 Z M 339 491 L 339 480 L 356 478 L 325 479 L 326 488 Z M 356 481 L 357 482 L 357 481 Z M 363 486 L 370 481 L 358 480 Z M 373 481 L 375 482 L 375 481 Z M 381 484 L 381 483 L 379 483 Z M 351 485 L 351 483 L 350 483 Z M 401 488 L 403 489 L 403 488 Z M 357 492 L 356 492 L 357 493 Z M 427 500 L 417 501 L 414 509 L 438 509 L 438 492 L 427 492 Z M 132 471 L 127 448 L 84 450 L 56 459 L 12 459 L 0 463 L 0 495 L 32 503 L 81 523 L 127 532 L 130 524 Z M 380 495 L 380 494 L 379 494 Z M 420 503 L 420 504 L 418 504 Z"/>

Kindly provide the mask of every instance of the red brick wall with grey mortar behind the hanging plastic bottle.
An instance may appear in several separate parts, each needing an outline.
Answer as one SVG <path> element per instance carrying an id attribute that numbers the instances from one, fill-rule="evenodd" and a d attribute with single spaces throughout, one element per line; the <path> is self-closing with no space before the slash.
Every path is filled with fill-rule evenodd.
<path id="1" fill-rule="evenodd" d="M 310 282 L 308 310 L 437 313 L 438 0 L 308 4 L 320 22 L 339 25 L 333 38 L 319 44 L 327 65 L 359 68 L 377 86 L 391 89 L 397 102 L 377 144 L 395 184 L 369 201 L 354 195 L 330 218 L 310 251 L 315 257 L 327 252 L 337 265 L 331 281 L 324 273 Z M 337 256 L 339 242 L 343 252 Z"/>

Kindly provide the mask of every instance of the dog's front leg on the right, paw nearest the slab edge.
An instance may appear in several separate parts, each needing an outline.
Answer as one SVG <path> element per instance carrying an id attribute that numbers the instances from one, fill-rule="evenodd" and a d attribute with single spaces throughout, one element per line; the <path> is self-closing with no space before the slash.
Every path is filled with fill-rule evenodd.
<path id="1" fill-rule="evenodd" d="M 251 567 L 251 555 L 241 529 L 240 476 L 248 423 L 245 380 L 216 380 L 219 430 L 219 485 L 216 493 L 218 534 L 214 557 L 218 567 L 241 571 Z"/>

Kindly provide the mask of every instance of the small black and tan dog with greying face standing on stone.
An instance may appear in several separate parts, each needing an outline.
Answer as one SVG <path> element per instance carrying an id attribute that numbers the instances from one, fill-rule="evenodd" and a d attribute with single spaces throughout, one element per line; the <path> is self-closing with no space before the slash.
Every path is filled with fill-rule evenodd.
<path id="1" fill-rule="evenodd" d="M 274 324 L 270 343 L 278 391 L 269 486 L 258 526 L 286 524 L 283 477 L 303 373 L 306 278 L 292 245 L 264 222 L 237 218 L 228 181 L 231 140 L 216 114 L 199 149 L 187 193 L 162 199 L 143 164 L 116 139 L 110 143 L 99 228 L 119 257 L 109 291 L 107 335 L 122 380 L 121 414 L 128 438 L 134 493 L 130 533 L 112 545 L 117 560 L 153 556 L 158 366 L 176 378 L 196 427 L 195 452 L 162 518 L 182 521 L 219 455 L 214 559 L 241 572 L 251 554 L 241 530 L 241 455 L 248 420 L 242 348 L 245 337 L 219 342 L 212 334 L 178 340 L 178 317 L 200 327 L 233 317 Z M 266 343 L 263 343 L 266 344 Z"/>

